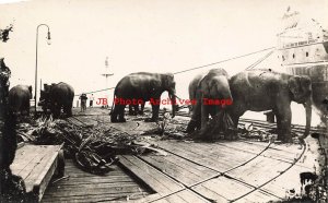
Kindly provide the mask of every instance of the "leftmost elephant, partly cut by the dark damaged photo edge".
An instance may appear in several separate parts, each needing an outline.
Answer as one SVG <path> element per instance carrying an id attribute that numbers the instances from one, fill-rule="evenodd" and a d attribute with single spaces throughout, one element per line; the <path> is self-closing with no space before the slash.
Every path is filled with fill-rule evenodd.
<path id="1" fill-rule="evenodd" d="M 30 115 L 32 86 L 16 85 L 9 91 L 9 108 L 12 114 Z"/>

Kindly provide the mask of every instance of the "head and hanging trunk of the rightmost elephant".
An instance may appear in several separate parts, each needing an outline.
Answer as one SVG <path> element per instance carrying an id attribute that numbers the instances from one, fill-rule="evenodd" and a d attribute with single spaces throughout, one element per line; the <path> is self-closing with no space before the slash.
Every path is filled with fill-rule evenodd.
<path id="1" fill-rule="evenodd" d="M 306 112 L 306 127 L 303 138 L 309 133 L 312 118 L 312 83 L 308 76 L 293 75 L 288 81 L 292 100 L 303 104 Z"/>

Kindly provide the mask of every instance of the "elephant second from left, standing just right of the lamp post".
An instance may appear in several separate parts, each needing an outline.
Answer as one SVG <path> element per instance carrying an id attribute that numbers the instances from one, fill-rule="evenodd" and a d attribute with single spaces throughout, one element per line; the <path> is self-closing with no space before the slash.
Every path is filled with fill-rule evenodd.
<path id="1" fill-rule="evenodd" d="M 42 94 L 42 97 L 44 97 L 44 104 L 49 105 L 54 118 L 59 118 L 61 108 L 67 117 L 72 116 L 74 88 L 71 85 L 63 82 L 52 84 L 47 92 Z"/>

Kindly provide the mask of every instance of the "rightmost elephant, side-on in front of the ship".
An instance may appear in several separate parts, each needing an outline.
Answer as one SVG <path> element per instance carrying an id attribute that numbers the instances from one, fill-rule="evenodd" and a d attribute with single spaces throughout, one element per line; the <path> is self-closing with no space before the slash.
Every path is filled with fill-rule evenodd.
<path id="1" fill-rule="evenodd" d="M 272 110 L 277 117 L 278 140 L 291 142 L 291 101 L 296 101 L 305 108 L 304 138 L 308 135 L 312 117 L 312 82 L 308 76 L 273 72 L 271 69 L 248 70 L 232 76 L 230 88 L 234 103 L 227 111 L 235 128 L 247 110 Z"/>

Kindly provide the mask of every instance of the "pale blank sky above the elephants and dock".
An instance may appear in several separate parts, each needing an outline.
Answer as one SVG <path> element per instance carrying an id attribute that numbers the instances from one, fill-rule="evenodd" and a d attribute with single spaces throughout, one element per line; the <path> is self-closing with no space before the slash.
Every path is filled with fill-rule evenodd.
<path id="1" fill-rule="evenodd" d="M 51 45 L 40 26 L 38 86 L 40 79 L 62 81 L 81 94 L 113 87 L 131 72 L 176 72 L 274 47 L 289 7 L 328 23 L 328 0 L 0 1 L 0 27 L 14 26 L 10 40 L 0 44 L 0 56 L 12 70 L 11 86 L 34 86 L 36 27 L 45 23 Z M 267 52 L 214 67 L 234 74 Z M 106 57 L 114 73 L 107 86 L 101 75 Z M 188 98 L 189 81 L 209 68 L 176 75 L 177 94 Z M 95 97 L 104 95 L 113 92 Z"/>

